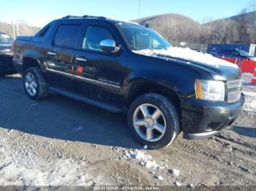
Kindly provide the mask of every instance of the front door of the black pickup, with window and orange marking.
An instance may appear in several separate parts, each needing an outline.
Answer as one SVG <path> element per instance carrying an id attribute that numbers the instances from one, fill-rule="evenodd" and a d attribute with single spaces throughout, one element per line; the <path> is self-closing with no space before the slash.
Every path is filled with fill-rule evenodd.
<path id="1" fill-rule="evenodd" d="M 121 87 L 128 74 L 125 67 L 125 51 L 116 54 L 102 51 L 102 40 L 115 40 L 121 46 L 120 38 L 109 25 L 90 22 L 82 32 L 78 51 L 74 58 L 75 91 L 93 100 L 120 106 L 124 103 Z"/>

